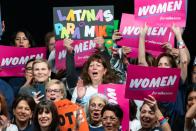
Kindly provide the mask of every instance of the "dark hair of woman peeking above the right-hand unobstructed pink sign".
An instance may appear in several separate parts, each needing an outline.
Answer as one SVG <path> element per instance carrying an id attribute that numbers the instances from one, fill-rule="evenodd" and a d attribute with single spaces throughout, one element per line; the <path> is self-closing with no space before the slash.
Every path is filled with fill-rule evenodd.
<path id="1" fill-rule="evenodd" d="M 174 58 L 172 55 L 168 54 L 168 53 L 162 53 L 162 54 L 160 54 L 160 55 L 157 57 L 157 59 L 156 59 L 156 66 L 158 66 L 159 61 L 160 61 L 160 59 L 161 59 L 162 57 L 167 57 L 169 63 L 171 64 L 171 68 L 176 68 L 176 67 L 177 67 L 177 63 L 176 63 L 176 61 L 175 61 L 175 58 Z"/>

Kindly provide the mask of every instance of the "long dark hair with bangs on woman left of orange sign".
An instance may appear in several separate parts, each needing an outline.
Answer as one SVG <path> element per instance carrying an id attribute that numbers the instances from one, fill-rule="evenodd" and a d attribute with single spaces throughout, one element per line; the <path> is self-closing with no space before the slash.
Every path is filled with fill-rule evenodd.
<path id="1" fill-rule="evenodd" d="M 35 112 L 33 114 L 33 122 L 34 122 L 34 128 L 36 131 L 41 131 L 40 125 L 38 122 L 38 114 L 43 113 L 44 111 L 51 112 L 52 114 L 52 122 L 51 125 L 49 126 L 49 131 L 56 131 L 58 129 L 58 112 L 57 108 L 54 105 L 52 101 L 49 100 L 43 100 L 39 104 L 36 105 L 35 107 Z"/>

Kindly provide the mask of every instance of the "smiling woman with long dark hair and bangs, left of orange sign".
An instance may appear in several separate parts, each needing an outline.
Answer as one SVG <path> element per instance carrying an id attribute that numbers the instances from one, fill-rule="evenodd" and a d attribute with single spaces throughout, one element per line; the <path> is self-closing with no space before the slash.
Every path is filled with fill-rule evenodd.
<path id="1" fill-rule="evenodd" d="M 34 116 L 35 131 L 59 131 L 58 112 L 52 101 L 41 101 L 35 108 Z"/>

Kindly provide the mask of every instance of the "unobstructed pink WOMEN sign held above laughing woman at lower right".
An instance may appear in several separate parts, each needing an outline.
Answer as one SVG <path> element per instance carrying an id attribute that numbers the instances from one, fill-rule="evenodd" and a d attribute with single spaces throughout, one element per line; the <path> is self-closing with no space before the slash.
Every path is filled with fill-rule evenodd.
<path id="1" fill-rule="evenodd" d="M 125 97 L 143 100 L 149 94 L 157 101 L 174 102 L 180 80 L 180 69 L 129 65 Z"/>

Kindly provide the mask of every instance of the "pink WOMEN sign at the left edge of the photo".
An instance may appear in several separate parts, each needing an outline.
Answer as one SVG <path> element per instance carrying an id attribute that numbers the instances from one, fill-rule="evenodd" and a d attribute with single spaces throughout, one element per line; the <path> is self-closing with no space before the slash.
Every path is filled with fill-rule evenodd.
<path id="1" fill-rule="evenodd" d="M 0 46 L 0 76 L 24 76 L 24 66 L 29 59 L 46 58 L 46 48 L 18 48 Z"/>

